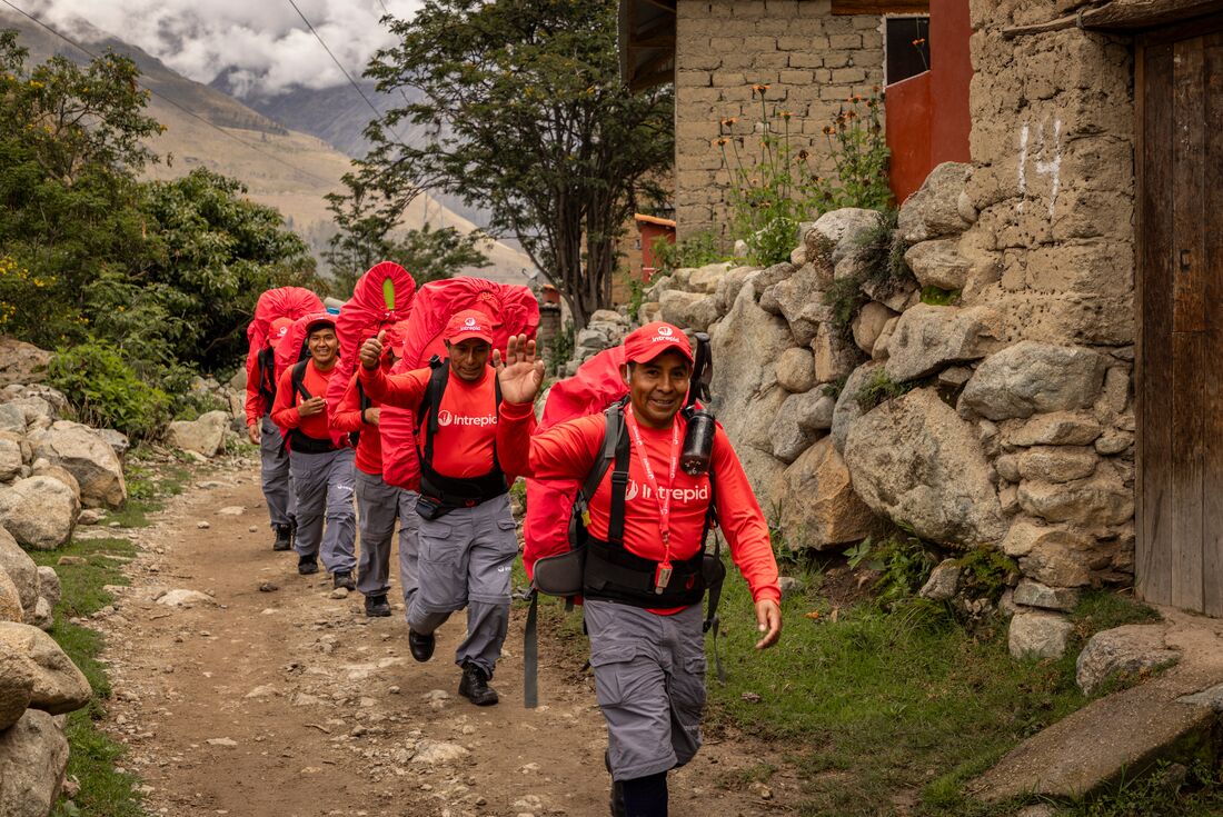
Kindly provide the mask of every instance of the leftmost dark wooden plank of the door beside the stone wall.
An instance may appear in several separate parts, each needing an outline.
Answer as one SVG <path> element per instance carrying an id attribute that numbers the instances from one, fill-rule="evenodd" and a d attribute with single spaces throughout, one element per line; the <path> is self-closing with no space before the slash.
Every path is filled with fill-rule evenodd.
<path id="1" fill-rule="evenodd" d="M 1141 512 L 1135 554 L 1136 591 L 1172 602 L 1172 45 L 1144 49 L 1139 353 L 1139 482 Z"/>

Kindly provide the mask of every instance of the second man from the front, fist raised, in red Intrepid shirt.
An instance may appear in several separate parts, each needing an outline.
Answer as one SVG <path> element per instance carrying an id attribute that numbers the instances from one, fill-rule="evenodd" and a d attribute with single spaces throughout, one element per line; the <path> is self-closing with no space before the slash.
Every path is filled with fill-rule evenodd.
<path id="1" fill-rule="evenodd" d="M 510 570 L 519 553 L 509 486 L 497 456 L 498 385 L 489 367 L 492 327 L 483 312 L 455 314 L 449 358 L 438 368 L 386 375 L 380 338 L 361 347 L 361 385 L 371 400 L 416 411 L 421 453 L 419 588 L 407 612 L 408 647 L 433 656 L 434 631 L 467 608 L 467 637 L 455 652 L 459 693 L 497 703 L 488 686 L 510 623 Z"/>

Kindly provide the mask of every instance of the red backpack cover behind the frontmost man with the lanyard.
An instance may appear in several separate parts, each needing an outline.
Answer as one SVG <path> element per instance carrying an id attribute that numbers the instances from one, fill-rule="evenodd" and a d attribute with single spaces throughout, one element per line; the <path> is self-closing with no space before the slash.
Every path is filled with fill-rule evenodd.
<path id="1" fill-rule="evenodd" d="M 598 413 L 629 394 L 621 366 L 624 346 L 614 346 L 582 363 L 574 377 L 554 383 L 536 433 L 566 420 Z M 569 515 L 581 487 L 581 479 L 527 479 L 522 565 L 528 577 L 534 575 L 536 559 L 569 549 Z"/>

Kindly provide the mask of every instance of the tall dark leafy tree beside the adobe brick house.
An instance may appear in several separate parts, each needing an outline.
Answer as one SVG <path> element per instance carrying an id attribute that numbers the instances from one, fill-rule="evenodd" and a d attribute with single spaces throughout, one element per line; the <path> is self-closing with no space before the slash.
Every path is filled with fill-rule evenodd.
<path id="1" fill-rule="evenodd" d="M 575 323 L 612 300 L 615 238 L 673 154 L 671 92 L 619 77 L 613 2 L 427 0 L 390 20 L 399 43 L 366 72 L 422 100 L 372 122 L 358 175 L 390 197 L 422 188 L 490 212 L 567 301 Z M 407 95 L 405 94 L 405 100 Z M 429 128 L 422 147 L 394 127 Z"/>

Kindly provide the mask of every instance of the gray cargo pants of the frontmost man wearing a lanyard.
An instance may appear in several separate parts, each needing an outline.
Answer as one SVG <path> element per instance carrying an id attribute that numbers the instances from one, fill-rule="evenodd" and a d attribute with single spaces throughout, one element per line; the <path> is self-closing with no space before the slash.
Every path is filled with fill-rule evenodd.
<path id="1" fill-rule="evenodd" d="M 585 615 L 613 779 L 648 777 L 691 761 L 701 747 L 704 709 L 702 605 L 658 615 L 586 599 Z"/>

